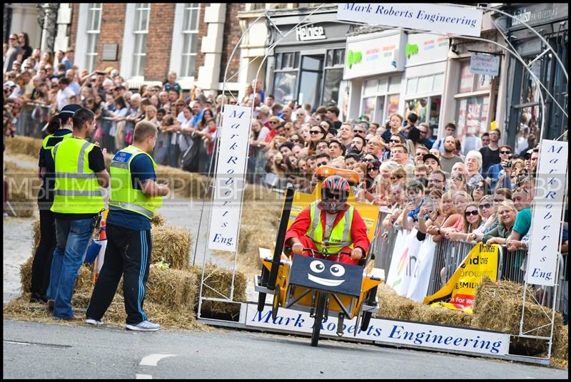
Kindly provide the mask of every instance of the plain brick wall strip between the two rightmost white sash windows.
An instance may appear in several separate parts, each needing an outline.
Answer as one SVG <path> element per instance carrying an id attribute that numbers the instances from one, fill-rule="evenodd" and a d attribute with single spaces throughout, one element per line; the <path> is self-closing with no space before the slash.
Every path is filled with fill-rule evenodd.
<path id="1" fill-rule="evenodd" d="M 152 3 L 148 23 L 145 80 L 163 81 L 171 64 L 174 3 Z"/>

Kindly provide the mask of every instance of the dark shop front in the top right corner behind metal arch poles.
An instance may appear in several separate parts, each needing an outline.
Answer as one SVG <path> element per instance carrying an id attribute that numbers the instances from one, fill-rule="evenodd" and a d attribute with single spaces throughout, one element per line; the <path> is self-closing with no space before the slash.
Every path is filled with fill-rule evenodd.
<path id="1" fill-rule="evenodd" d="M 516 18 L 505 20 L 507 38 L 526 65 L 530 66 L 532 73 L 545 86 L 542 91 L 523 64 L 516 58 L 510 58 L 507 142 L 515 143 L 517 149 L 520 149 L 522 145 L 527 145 L 527 135 L 535 135 L 537 142 L 541 138 L 555 139 L 562 135 L 568 123 L 565 115 L 568 110 L 568 81 L 563 68 L 554 53 L 546 50 L 545 42 L 527 29 L 522 21 L 545 38 L 565 68 L 568 68 L 569 8 L 567 4 L 557 3 L 517 4 L 505 6 L 502 10 Z M 550 98 L 545 90 L 551 93 L 555 100 Z M 540 91 L 546 102 L 545 115 L 542 115 Z M 540 137 L 542 118 L 545 118 L 545 132 Z"/>

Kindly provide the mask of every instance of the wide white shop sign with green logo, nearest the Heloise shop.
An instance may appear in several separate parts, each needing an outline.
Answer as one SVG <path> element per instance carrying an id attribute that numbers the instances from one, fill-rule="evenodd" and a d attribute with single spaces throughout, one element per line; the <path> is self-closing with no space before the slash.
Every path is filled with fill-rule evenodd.
<path id="1" fill-rule="evenodd" d="M 400 31 L 390 36 L 348 41 L 343 79 L 403 71 L 405 41 Z"/>

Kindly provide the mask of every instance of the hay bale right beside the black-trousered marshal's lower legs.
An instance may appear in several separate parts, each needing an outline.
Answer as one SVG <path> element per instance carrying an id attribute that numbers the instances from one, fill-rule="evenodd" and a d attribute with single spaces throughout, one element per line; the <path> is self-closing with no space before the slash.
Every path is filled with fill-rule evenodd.
<path id="1" fill-rule="evenodd" d="M 196 273 L 188 270 L 161 271 L 151 265 L 145 300 L 174 311 L 193 311 L 198 294 Z"/>

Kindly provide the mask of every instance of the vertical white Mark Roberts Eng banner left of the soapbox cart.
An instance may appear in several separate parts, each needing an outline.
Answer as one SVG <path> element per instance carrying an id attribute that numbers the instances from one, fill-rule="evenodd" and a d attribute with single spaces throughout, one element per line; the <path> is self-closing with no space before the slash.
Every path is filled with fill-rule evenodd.
<path id="1" fill-rule="evenodd" d="M 224 105 L 208 249 L 236 251 L 250 126 L 251 108 Z"/>

